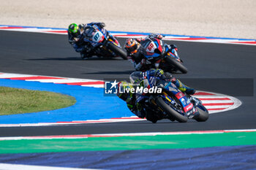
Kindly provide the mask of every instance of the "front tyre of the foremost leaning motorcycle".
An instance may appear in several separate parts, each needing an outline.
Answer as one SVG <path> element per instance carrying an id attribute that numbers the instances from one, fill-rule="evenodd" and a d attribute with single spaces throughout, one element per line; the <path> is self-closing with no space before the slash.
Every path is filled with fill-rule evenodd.
<path id="1" fill-rule="evenodd" d="M 180 123 L 187 122 L 188 117 L 181 115 L 175 109 L 171 108 L 167 103 L 165 103 L 163 98 L 161 98 L 161 97 L 157 98 L 156 103 L 161 109 L 163 109 L 167 113 L 167 115 L 169 115 L 170 117 L 173 117 L 178 122 L 180 122 Z"/>

